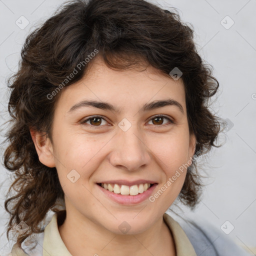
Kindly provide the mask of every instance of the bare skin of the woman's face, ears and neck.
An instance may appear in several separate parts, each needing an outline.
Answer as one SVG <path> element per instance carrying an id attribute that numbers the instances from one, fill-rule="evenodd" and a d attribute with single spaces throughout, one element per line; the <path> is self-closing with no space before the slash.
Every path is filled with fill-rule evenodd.
<path id="1" fill-rule="evenodd" d="M 154 100 L 172 98 L 183 109 L 167 105 L 139 110 Z M 106 101 L 120 113 L 91 106 L 69 109 L 81 100 Z M 173 120 L 152 117 L 163 114 Z M 104 119 L 81 123 L 88 117 Z M 126 118 L 131 127 L 118 123 Z M 92 124 L 91 124 L 92 123 Z M 166 125 L 165 125 L 166 124 Z M 182 79 L 173 80 L 158 69 L 144 71 L 108 68 L 97 57 L 86 75 L 65 87 L 57 101 L 52 122 L 52 140 L 31 130 L 39 160 L 56 167 L 64 191 L 66 218 L 58 226 L 72 255 L 176 255 L 173 237 L 162 215 L 178 196 L 186 169 L 154 202 L 121 205 L 103 195 L 96 182 L 109 179 L 150 179 L 155 193 L 195 151 L 195 136 L 189 134 Z M 72 183 L 67 174 L 75 169 L 80 177 Z M 126 221 L 130 230 L 118 226 Z"/>

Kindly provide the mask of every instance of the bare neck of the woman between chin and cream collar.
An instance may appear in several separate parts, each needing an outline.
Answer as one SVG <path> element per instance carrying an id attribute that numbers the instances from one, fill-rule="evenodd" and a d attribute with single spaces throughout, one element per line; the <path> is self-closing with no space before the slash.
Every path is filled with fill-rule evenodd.
<path id="1" fill-rule="evenodd" d="M 114 251 L 118 251 L 119 256 L 138 256 L 142 253 L 176 255 L 173 237 L 162 217 L 138 234 L 112 233 L 84 216 L 81 221 L 66 214 L 61 222 L 59 234 L 67 250 L 75 256 L 107 256 Z"/>

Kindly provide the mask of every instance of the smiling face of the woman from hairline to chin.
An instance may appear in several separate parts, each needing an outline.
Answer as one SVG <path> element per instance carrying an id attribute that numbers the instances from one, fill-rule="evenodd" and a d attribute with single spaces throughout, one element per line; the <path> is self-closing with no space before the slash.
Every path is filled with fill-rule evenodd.
<path id="1" fill-rule="evenodd" d="M 124 220 L 129 233 L 143 232 L 179 194 L 186 169 L 175 173 L 194 153 L 182 80 L 153 67 L 115 71 L 95 59 L 61 91 L 48 146 L 54 157 L 39 159 L 56 166 L 67 214 L 114 233 Z M 146 190 L 145 183 L 152 185 Z"/>

